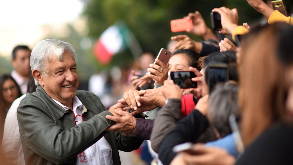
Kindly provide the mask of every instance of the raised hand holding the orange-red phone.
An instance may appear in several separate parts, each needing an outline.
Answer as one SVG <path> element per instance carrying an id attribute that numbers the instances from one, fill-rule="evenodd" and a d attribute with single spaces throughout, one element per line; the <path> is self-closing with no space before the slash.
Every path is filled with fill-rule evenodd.
<path id="1" fill-rule="evenodd" d="M 214 33 L 205 24 L 205 20 L 202 18 L 200 12 L 195 11 L 195 13 L 189 13 L 186 19 L 191 19 L 193 23 L 193 29 L 187 31 L 188 33 L 195 34 L 197 36 L 202 36 L 205 41 L 214 38 Z"/>

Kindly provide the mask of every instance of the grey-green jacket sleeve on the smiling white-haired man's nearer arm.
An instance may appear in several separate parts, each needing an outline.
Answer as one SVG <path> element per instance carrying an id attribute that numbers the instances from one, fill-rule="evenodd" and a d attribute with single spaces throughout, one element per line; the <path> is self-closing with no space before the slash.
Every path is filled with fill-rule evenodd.
<path id="1" fill-rule="evenodd" d="M 22 144 L 54 164 L 74 161 L 79 153 L 107 133 L 105 128 L 114 124 L 105 118 L 112 113 L 103 111 L 70 130 L 62 130 L 46 108 L 37 99 L 23 99 L 17 118 Z"/>

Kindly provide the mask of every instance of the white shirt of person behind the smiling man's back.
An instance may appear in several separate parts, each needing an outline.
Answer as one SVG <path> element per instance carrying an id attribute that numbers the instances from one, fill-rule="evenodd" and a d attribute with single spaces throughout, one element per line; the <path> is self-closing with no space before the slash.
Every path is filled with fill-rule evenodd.
<path id="1" fill-rule="evenodd" d="M 5 118 L 4 133 L 1 149 L 6 158 L 7 164 L 24 165 L 16 109 L 26 94 L 14 100 Z"/>

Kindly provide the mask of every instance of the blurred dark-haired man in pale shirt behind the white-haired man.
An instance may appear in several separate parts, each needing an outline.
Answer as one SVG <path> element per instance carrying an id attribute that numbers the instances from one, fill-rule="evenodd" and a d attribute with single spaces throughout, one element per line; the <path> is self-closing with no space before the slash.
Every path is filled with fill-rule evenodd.
<path id="1" fill-rule="evenodd" d="M 21 89 L 21 93 L 25 94 L 28 87 L 28 81 L 32 77 L 30 70 L 30 49 L 25 45 L 18 45 L 12 50 L 11 64 L 13 70 L 11 77 L 16 81 Z"/>

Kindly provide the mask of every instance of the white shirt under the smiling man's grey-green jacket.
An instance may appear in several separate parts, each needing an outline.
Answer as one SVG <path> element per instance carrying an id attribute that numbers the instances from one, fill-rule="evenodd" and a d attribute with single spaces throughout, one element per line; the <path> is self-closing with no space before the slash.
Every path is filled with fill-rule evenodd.
<path id="1" fill-rule="evenodd" d="M 52 100 L 54 100 L 52 98 Z M 58 105 L 63 107 L 65 110 L 69 110 L 69 107 L 66 107 L 62 105 L 60 102 L 57 100 L 54 100 Z M 73 102 L 73 112 L 74 115 L 82 115 L 84 112 L 86 112 L 86 107 L 82 105 L 81 101 L 77 96 L 75 96 L 72 99 Z M 75 119 L 76 125 L 82 122 L 81 116 L 77 116 Z M 97 126 L 98 127 L 98 126 Z M 89 165 L 110 165 L 113 164 L 112 162 L 112 156 L 111 156 L 111 147 L 105 137 L 102 137 L 98 142 L 93 144 L 91 147 L 88 147 L 86 150 L 84 150 L 84 154 L 86 157 L 86 161 L 81 162 L 83 156 L 77 156 L 77 162 L 76 165 L 81 165 L 81 164 L 89 164 Z"/>

